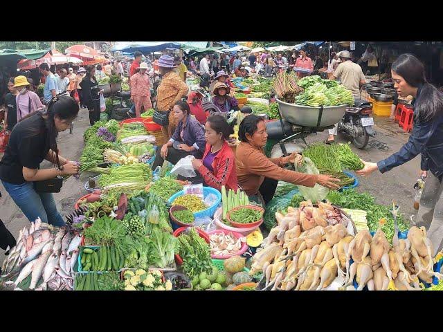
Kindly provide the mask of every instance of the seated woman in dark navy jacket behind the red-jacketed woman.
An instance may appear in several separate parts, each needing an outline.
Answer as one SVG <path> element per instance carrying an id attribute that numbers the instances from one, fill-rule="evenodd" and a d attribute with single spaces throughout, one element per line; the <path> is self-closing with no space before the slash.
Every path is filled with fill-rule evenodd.
<path id="1" fill-rule="evenodd" d="M 172 113 L 178 122 L 174 134 L 168 142 L 157 149 L 152 169 L 163 165 L 168 160 L 172 165 L 192 154 L 195 158 L 203 157 L 205 151 L 205 133 L 201 124 L 192 116 L 187 102 L 179 100 L 174 104 Z"/>

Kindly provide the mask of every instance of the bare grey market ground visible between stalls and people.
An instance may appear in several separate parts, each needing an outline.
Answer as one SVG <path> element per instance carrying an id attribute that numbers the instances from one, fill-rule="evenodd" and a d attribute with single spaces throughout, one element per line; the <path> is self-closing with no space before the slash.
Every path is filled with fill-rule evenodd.
<path id="1" fill-rule="evenodd" d="M 366 161 L 377 162 L 383 158 L 390 156 L 408 140 L 408 133 L 404 133 L 398 124 L 392 124 L 387 117 L 374 116 L 376 136 L 370 138 L 369 144 L 364 150 L 352 149 Z M 83 149 L 83 132 L 89 127 L 89 115 L 87 109 L 82 109 L 78 118 L 75 120 L 73 134 L 69 131 L 60 133 L 58 146 L 62 156 L 69 160 L 78 160 Z M 307 142 L 325 140 L 327 131 L 317 133 L 307 138 Z M 346 142 L 343 136 L 338 136 L 338 141 Z M 1 156 L 1 154 L 0 154 Z M 49 163 L 43 167 L 50 167 Z M 369 177 L 359 178 L 360 185 L 357 187 L 359 192 L 368 192 L 377 197 L 377 202 L 389 205 L 392 200 L 397 201 L 400 211 L 409 217 L 416 214 L 413 209 L 413 198 L 415 190 L 413 185 L 419 177 L 420 160 L 419 157 L 411 160 L 409 163 L 392 169 L 386 174 L 379 172 Z M 69 178 L 64 183 L 62 190 L 58 194 L 54 194 L 57 202 L 57 210 L 62 216 L 66 216 L 73 211 L 75 201 L 87 194 L 84 189 L 84 183 L 87 181 L 88 174 L 82 174 L 80 181 L 75 178 Z M 21 210 L 12 201 L 6 190 L 0 183 L 0 191 L 3 194 L 1 199 L 0 219 L 3 220 L 6 227 L 17 237 L 19 230 L 28 224 L 28 220 Z M 0 252 L 0 264 L 3 263 L 3 251 Z"/>

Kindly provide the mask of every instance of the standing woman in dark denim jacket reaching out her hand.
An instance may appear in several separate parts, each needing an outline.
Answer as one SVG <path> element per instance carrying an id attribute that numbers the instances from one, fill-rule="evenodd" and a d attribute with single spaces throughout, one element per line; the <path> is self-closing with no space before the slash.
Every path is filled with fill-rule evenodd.
<path id="1" fill-rule="evenodd" d="M 427 176 L 416 223 L 424 226 L 433 244 L 433 257 L 443 249 L 443 95 L 426 81 L 424 66 L 414 55 L 400 55 L 392 64 L 392 80 L 401 97 L 413 95 L 413 132 L 400 151 L 378 163 L 367 163 L 362 176 L 385 173 L 422 154 Z"/>

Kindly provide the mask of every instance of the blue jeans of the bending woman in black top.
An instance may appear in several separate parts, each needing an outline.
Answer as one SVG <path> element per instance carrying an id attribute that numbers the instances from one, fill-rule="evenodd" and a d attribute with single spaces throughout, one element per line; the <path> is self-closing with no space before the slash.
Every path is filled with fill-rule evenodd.
<path id="1" fill-rule="evenodd" d="M 1 181 L 1 183 L 31 223 L 40 217 L 44 223 L 50 223 L 51 225 L 63 226 L 65 224 L 62 216 L 57 211 L 53 194 L 36 192 L 32 182 L 25 182 L 21 185 L 5 181 Z"/>

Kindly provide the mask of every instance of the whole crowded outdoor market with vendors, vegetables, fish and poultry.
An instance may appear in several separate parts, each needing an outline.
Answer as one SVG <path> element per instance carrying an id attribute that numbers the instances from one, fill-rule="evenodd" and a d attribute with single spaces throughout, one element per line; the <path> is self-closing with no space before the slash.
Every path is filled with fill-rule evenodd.
<path id="1" fill-rule="evenodd" d="M 0 290 L 443 290 L 440 45 L 56 43 L 0 50 Z"/>

